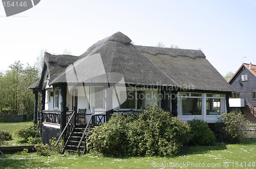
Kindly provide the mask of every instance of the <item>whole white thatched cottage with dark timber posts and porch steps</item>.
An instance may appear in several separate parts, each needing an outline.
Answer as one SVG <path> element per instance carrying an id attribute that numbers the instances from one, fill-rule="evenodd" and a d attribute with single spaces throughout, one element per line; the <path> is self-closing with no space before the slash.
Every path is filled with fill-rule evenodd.
<path id="1" fill-rule="evenodd" d="M 229 111 L 234 91 L 201 50 L 137 46 L 120 32 L 78 57 L 46 52 L 44 61 L 40 80 L 29 88 L 35 94 L 34 121 L 40 92 L 43 142 L 67 132 L 66 145 L 71 148 L 73 137 L 80 138 L 70 151 L 79 151 L 89 124 L 151 103 L 182 121 L 217 122 L 222 112 Z M 72 135 L 77 126 L 83 135 Z"/>

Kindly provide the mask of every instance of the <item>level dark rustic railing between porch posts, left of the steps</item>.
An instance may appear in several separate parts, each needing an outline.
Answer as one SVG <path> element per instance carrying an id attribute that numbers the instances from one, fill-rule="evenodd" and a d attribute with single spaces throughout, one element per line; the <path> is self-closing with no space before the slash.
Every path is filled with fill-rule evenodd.
<path id="1" fill-rule="evenodd" d="M 60 124 L 60 110 L 42 110 L 43 122 Z"/>

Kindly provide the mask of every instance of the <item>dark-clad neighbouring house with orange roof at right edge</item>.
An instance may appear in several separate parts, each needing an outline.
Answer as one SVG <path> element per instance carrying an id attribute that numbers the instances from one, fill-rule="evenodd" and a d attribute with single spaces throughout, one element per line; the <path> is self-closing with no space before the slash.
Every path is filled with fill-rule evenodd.
<path id="1" fill-rule="evenodd" d="M 229 99 L 232 111 L 242 111 L 256 123 L 256 65 L 243 63 L 228 82 L 235 90 Z"/>

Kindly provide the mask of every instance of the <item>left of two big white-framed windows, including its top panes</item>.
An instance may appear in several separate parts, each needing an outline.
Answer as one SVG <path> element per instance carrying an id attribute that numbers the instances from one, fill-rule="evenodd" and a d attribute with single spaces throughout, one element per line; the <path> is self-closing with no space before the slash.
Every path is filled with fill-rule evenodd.
<path id="1" fill-rule="evenodd" d="M 182 115 L 202 115 L 201 93 L 179 93 L 182 100 Z"/>

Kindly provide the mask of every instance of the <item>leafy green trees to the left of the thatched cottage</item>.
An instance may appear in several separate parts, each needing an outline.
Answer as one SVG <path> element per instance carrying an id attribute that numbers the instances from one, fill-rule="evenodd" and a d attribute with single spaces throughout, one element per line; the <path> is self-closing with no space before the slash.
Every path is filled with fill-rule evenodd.
<path id="1" fill-rule="evenodd" d="M 24 67 L 20 61 L 0 73 L 0 111 L 6 114 L 33 114 L 34 95 L 27 88 L 38 79 L 38 70 L 29 64 Z"/>

